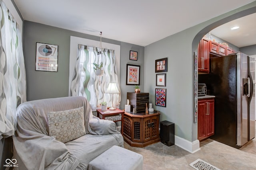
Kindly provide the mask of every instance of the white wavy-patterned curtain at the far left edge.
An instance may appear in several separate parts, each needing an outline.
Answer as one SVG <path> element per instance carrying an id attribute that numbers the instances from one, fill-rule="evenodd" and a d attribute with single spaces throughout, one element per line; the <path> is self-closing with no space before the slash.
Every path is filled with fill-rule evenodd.
<path id="1" fill-rule="evenodd" d="M 16 108 L 26 102 L 22 39 L 16 21 L 0 0 L 0 139 L 14 135 Z"/>

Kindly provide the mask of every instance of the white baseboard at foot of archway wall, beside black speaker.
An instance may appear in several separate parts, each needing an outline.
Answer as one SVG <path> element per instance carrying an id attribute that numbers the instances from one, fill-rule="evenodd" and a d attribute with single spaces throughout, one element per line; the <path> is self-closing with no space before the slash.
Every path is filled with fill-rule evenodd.
<path id="1" fill-rule="evenodd" d="M 190 153 L 195 153 L 198 150 L 200 150 L 200 145 L 199 145 L 199 141 L 193 141 L 190 142 L 184 138 L 178 137 L 175 135 L 175 145 L 177 145 L 178 147 L 190 152 Z"/>

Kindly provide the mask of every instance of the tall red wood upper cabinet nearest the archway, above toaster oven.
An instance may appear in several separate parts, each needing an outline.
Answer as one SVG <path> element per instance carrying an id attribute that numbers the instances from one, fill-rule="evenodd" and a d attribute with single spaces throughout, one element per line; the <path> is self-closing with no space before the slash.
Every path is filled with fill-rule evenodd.
<path id="1" fill-rule="evenodd" d="M 201 39 L 198 45 L 198 72 L 209 73 L 209 40 Z"/>

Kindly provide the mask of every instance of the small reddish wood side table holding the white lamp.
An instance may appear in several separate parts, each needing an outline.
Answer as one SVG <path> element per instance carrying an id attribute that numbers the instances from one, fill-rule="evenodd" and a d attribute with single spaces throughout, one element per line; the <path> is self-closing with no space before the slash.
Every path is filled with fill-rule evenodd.
<path id="1" fill-rule="evenodd" d="M 97 111 L 97 117 L 100 119 L 105 119 L 105 120 L 112 120 L 114 122 L 116 121 L 121 121 L 121 134 L 123 135 L 124 131 L 124 111 L 117 109 L 116 110 L 107 110 L 107 111 L 102 111 L 101 109 L 96 109 Z"/>

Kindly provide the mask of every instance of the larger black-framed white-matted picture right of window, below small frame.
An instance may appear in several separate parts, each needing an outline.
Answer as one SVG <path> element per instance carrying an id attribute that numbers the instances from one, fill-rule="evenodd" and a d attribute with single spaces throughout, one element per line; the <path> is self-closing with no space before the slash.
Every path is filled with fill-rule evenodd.
<path id="1" fill-rule="evenodd" d="M 140 66 L 126 64 L 126 85 L 140 85 Z"/>

